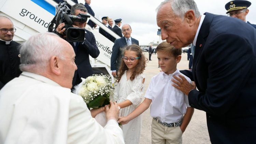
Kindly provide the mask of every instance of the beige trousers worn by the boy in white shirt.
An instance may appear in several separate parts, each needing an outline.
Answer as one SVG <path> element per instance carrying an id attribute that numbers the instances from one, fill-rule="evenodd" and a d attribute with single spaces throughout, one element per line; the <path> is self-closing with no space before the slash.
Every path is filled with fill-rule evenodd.
<path id="1" fill-rule="evenodd" d="M 182 144 L 182 131 L 180 127 L 167 127 L 152 119 L 152 144 Z"/>

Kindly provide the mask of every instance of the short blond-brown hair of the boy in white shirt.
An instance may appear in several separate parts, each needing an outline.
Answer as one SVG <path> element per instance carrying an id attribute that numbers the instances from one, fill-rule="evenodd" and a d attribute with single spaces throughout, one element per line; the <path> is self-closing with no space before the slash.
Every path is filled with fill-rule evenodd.
<path id="1" fill-rule="evenodd" d="M 162 42 L 156 47 L 156 53 L 166 52 L 177 58 L 182 53 L 181 49 L 182 48 L 174 48 L 174 46 L 168 42 Z"/>

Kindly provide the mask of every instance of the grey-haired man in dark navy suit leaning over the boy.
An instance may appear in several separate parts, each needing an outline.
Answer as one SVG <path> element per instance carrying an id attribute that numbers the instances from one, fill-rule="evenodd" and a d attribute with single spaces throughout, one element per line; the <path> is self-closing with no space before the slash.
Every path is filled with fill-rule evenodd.
<path id="1" fill-rule="evenodd" d="M 175 48 L 193 43 L 192 72 L 174 76 L 172 85 L 189 105 L 206 112 L 210 140 L 256 143 L 256 30 L 236 18 L 200 15 L 194 0 L 166 0 L 158 6 L 162 40 Z"/>

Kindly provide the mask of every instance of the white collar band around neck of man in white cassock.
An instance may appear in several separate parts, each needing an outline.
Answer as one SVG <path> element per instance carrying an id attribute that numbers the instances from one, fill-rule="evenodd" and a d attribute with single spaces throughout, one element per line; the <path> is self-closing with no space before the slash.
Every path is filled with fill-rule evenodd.
<path id="1" fill-rule="evenodd" d="M 39 75 L 39 74 L 24 71 L 24 72 L 22 72 L 21 76 L 30 77 L 34 80 L 44 82 L 44 83 L 47 83 L 47 84 L 50 84 L 53 86 L 60 86 L 58 83 L 54 82 L 53 80 L 51 80 L 45 76 Z"/>

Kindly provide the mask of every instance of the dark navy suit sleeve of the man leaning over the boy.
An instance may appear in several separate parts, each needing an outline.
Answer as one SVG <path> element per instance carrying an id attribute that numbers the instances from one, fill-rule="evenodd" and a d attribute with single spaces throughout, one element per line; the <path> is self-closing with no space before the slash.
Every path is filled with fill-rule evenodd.
<path id="1" fill-rule="evenodd" d="M 190 91 L 189 104 L 213 115 L 223 115 L 248 81 L 253 67 L 252 46 L 239 35 L 220 34 L 211 40 L 200 57 L 204 57 L 208 66 L 207 89 Z"/>

